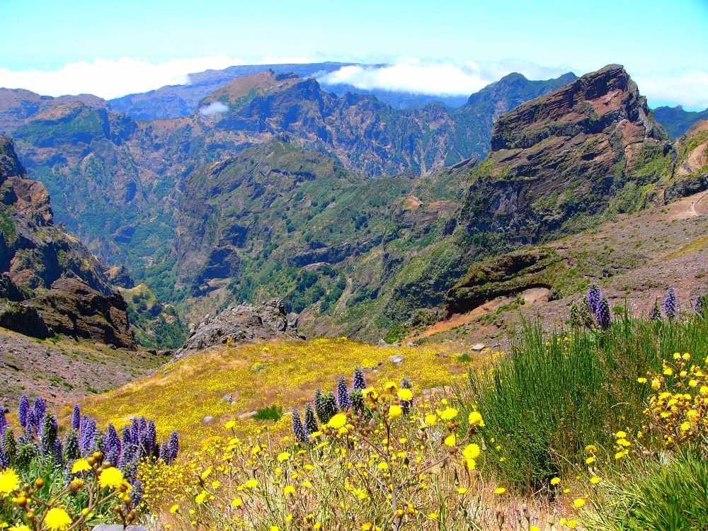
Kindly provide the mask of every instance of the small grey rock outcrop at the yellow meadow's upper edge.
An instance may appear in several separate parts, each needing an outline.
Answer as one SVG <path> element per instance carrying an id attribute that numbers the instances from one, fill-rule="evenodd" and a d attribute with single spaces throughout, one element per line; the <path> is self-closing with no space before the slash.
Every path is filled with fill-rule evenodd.
<path id="1" fill-rule="evenodd" d="M 185 346 L 175 358 L 183 358 L 197 350 L 227 342 L 246 342 L 273 338 L 302 338 L 292 322 L 288 322 L 285 307 L 278 300 L 251 306 L 239 304 L 208 317 L 193 329 Z"/>

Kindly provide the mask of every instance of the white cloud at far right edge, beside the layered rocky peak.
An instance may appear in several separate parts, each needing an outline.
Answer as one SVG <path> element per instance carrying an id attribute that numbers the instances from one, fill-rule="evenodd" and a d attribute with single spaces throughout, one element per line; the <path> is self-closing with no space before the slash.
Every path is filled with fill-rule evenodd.
<path id="1" fill-rule="evenodd" d="M 651 107 L 680 104 L 687 109 L 708 108 L 708 70 L 637 74 L 632 78 Z"/>

